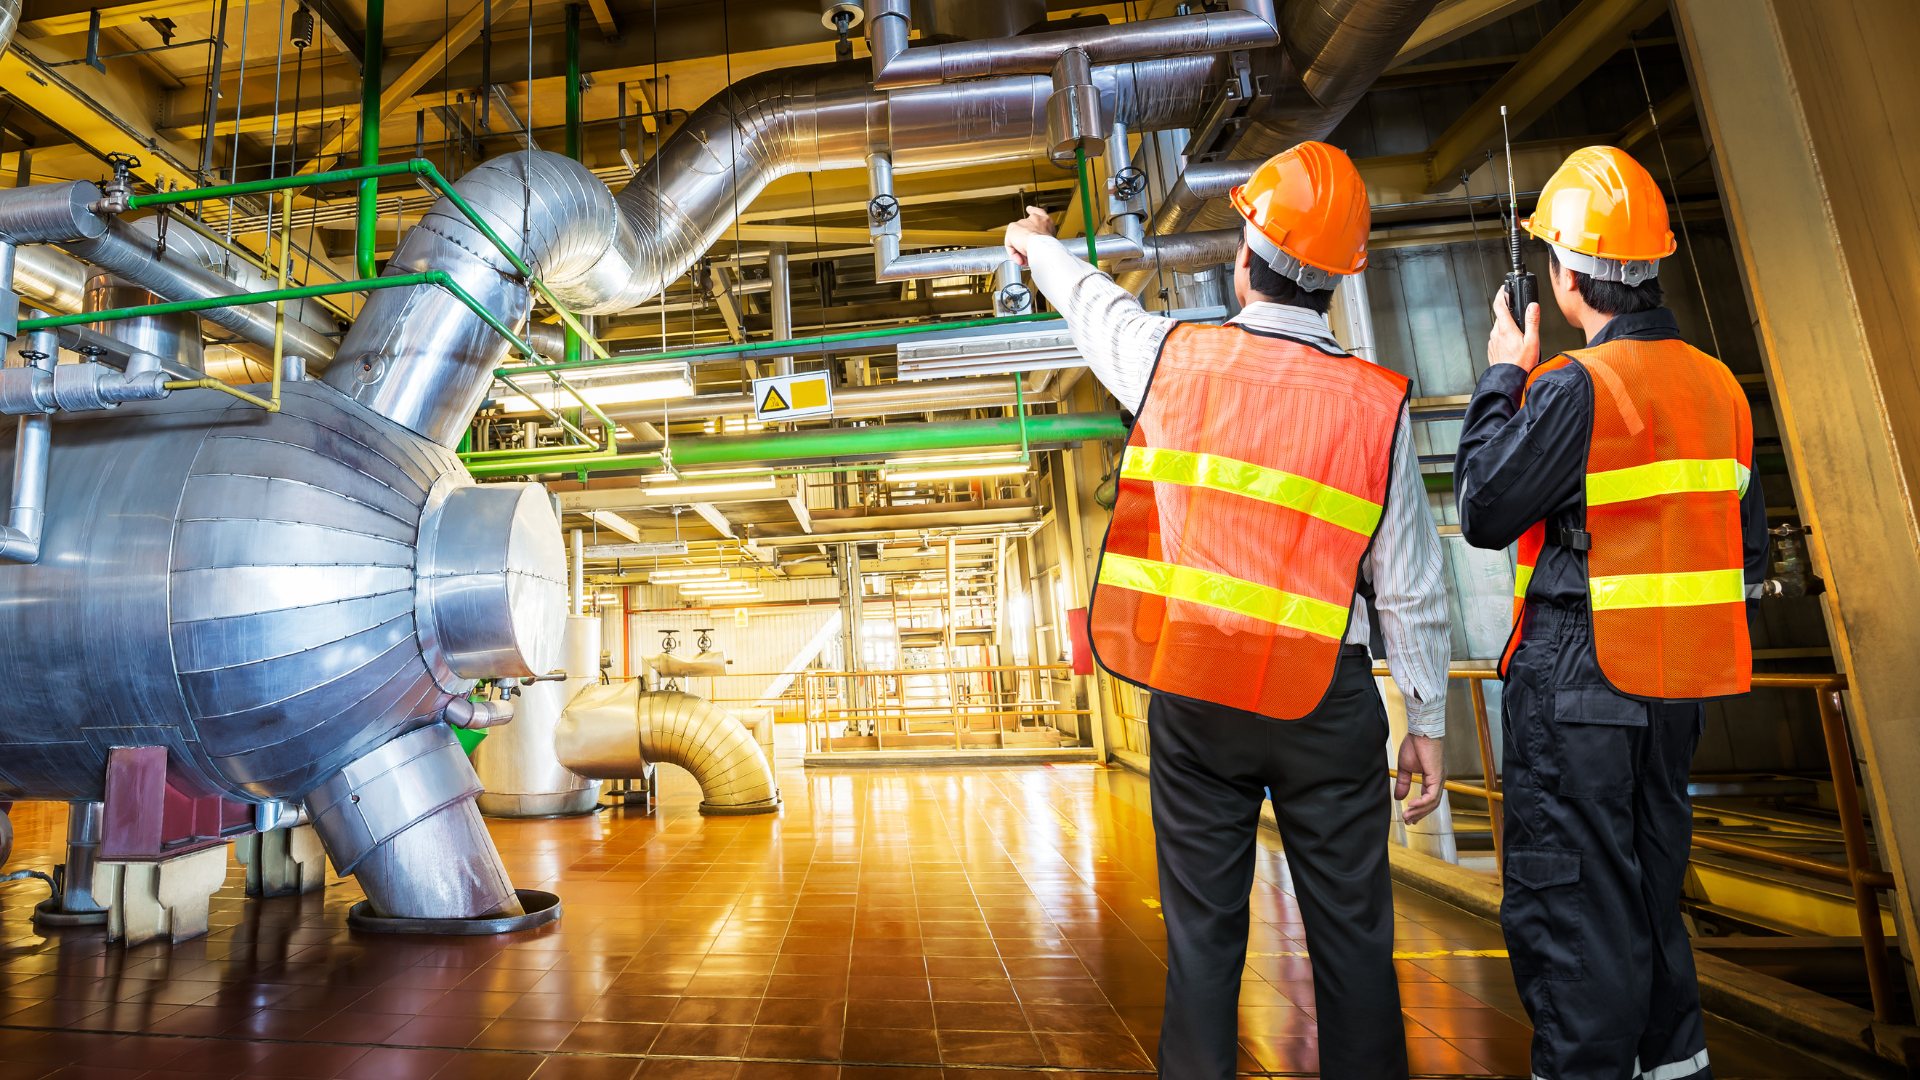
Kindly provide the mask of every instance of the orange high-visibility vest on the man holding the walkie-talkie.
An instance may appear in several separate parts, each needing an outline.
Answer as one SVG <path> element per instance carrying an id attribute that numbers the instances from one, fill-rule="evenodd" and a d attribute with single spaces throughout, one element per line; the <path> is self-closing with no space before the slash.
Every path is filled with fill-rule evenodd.
<path id="1" fill-rule="evenodd" d="M 1526 384 L 1569 363 L 1594 384 L 1584 532 L 1601 675 L 1632 698 L 1745 694 L 1753 646 L 1740 498 L 1753 415 L 1740 382 L 1682 340 L 1613 340 L 1542 363 Z M 1546 542 L 1546 521 L 1521 536 L 1501 675 Z"/>

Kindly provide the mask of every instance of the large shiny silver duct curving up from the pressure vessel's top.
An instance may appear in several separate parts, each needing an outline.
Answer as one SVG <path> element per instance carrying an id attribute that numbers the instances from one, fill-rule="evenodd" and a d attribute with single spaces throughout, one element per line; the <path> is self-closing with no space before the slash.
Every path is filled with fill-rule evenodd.
<path id="1" fill-rule="evenodd" d="M 1131 63 L 1096 69 L 1094 83 L 1135 129 L 1181 127 L 1194 123 L 1215 65 L 1212 56 Z M 885 94 L 858 65 L 768 71 L 695 110 L 618 196 L 586 165 L 532 150 L 455 186 L 497 234 L 518 238 L 516 254 L 561 302 L 584 315 L 624 311 L 684 275 L 739 208 L 787 173 L 860 167 L 889 146 L 899 169 L 1044 156 L 1050 92 L 1048 79 L 1016 77 Z M 386 273 L 426 269 L 524 325 L 526 284 L 445 200 L 407 233 Z M 369 298 L 326 382 L 453 446 L 507 350 L 445 290 L 394 288 Z"/>

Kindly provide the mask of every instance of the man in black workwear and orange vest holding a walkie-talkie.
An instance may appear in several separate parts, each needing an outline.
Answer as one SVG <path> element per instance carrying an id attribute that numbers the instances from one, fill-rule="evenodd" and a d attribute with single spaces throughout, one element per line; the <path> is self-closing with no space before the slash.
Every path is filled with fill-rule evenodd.
<path id="1" fill-rule="evenodd" d="M 1519 544 L 1501 661 L 1501 928 L 1536 1080 L 1711 1076 L 1680 888 L 1701 701 L 1743 694 L 1764 577 L 1751 409 L 1680 340 L 1667 208 L 1638 161 L 1580 150 L 1526 231 L 1586 348 L 1540 361 L 1540 306 L 1494 304 L 1467 405 L 1461 536 Z"/>

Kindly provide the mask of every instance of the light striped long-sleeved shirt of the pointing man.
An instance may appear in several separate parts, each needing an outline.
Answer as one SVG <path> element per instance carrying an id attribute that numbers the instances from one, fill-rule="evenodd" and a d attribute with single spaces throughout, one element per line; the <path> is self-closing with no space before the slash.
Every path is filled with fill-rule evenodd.
<path id="1" fill-rule="evenodd" d="M 1035 236 L 1027 244 L 1027 263 L 1033 282 L 1066 315 L 1087 367 L 1127 411 L 1139 413 L 1160 342 L 1175 323 L 1140 307 L 1131 292 L 1069 256 L 1060 240 Z M 1250 304 L 1233 321 L 1252 331 L 1300 338 L 1327 352 L 1346 352 L 1327 329 L 1327 317 L 1306 307 Z M 1413 423 L 1404 407 L 1394 438 L 1386 513 L 1359 573 L 1373 582 L 1386 665 L 1407 700 L 1407 730 L 1440 738 L 1446 734 L 1446 671 L 1453 634 L 1446 611 L 1440 532 L 1427 509 L 1427 484 L 1413 454 Z M 1363 646 L 1371 636 L 1367 603 L 1354 598 L 1346 640 Z"/>

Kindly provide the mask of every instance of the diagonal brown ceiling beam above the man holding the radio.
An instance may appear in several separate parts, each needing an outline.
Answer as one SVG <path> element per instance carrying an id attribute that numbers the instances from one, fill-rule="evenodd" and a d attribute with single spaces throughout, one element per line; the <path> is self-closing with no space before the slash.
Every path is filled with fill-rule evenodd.
<path id="1" fill-rule="evenodd" d="M 1609 56 L 1626 37 L 1667 13 L 1667 0 L 1582 0 L 1548 37 L 1494 83 L 1452 127 L 1434 140 L 1427 160 L 1427 190 L 1444 192 L 1459 183 L 1459 169 L 1484 148 L 1500 142 L 1500 108 L 1507 127 L 1526 131 Z"/>

